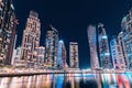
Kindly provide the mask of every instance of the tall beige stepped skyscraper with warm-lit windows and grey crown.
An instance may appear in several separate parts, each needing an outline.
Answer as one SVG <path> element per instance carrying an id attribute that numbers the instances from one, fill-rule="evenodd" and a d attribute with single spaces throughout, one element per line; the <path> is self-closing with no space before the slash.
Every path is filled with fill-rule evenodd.
<path id="1" fill-rule="evenodd" d="M 41 35 L 41 23 L 38 14 L 34 11 L 30 11 L 30 15 L 26 21 L 25 30 L 23 31 L 22 37 L 22 56 L 21 59 L 24 59 L 30 66 L 36 62 L 36 47 L 40 46 L 40 35 Z"/>

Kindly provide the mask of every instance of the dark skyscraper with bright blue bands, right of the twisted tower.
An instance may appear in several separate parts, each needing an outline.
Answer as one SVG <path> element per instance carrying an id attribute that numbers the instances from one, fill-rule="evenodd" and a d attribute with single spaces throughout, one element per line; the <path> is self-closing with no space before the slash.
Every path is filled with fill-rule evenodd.
<path id="1" fill-rule="evenodd" d="M 110 61 L 110 50 L 108 43 L 108 36 L 102 23 L 98 24 L 98 43 L 99 43 L 99 56 L 102 68 L 111 68 L 112 63 Z"/>

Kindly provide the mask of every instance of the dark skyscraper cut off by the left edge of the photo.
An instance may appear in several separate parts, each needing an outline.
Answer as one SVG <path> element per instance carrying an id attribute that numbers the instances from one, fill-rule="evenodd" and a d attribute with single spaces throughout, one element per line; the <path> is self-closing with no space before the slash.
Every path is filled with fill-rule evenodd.
<path id="1" fill-rule="evenodd" d="M 0 65 L 11 65 L 16 19 L 12 0 L 0 0 Z"/>

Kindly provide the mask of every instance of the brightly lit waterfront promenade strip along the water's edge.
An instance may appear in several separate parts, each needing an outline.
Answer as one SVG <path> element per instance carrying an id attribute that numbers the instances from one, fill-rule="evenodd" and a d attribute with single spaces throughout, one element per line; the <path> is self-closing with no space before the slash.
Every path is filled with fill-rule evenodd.
<path id="1" fill-rule="evenodd" d="M 33 75 L 48 75 L 48 74 L 123 74 L 132 73 L 131 70 L 19 70 L 19 72 L 1 72 L 0 77 L 14 77 L 14 76 L 33 76 Z"/>

